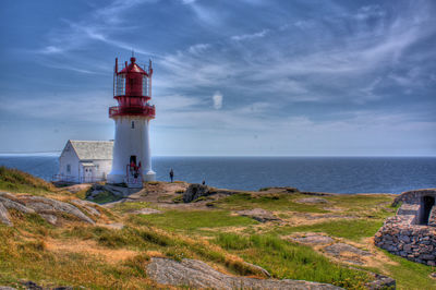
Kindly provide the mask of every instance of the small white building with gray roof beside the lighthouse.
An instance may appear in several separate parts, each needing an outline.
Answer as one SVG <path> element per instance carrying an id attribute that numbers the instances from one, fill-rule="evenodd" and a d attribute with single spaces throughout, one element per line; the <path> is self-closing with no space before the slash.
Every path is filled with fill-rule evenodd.
<path id="1" fill-rule="evenodd" d="M 69 140 L 59 157 L 55 181 L 87 183 L 104 181 L 112 167 L 113 141 Z"/>

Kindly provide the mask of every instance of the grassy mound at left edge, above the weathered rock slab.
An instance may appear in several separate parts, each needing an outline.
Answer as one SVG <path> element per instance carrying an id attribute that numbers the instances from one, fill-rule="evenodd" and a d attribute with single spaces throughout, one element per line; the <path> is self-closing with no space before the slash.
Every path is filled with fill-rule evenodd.
<path id="1" fill-rule="evenodd" d="M 56 191 L 51 183 L 20 171 L 0 166 L 0 190 L 17 193 L 44 194 Z"/>

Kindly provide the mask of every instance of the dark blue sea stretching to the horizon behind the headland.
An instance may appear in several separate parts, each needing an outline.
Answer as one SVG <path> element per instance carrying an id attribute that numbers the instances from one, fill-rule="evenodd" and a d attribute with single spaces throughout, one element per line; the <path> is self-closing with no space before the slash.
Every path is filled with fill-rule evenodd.
<path id="1" fill-rule="evenodd" d="M 57 156 L 2 155 L 0 166 L 50 181 Z M 157 180 L 234 190 L 292 186 L 331 193 L 393 193 L 436 188 L 436 157 L 155 157 Z"/>

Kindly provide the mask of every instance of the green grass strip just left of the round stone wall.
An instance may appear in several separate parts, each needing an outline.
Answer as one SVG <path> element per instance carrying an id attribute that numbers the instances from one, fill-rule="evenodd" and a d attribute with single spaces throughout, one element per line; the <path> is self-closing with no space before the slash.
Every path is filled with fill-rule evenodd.
<path id="1" fill-rule="evenodd" d="M 360 241 L 362 238 L 374 235 L 382 226 L 383 220 L 379 219 L 342 219 L 311 226 L 281 227 L 271 232 L 282 235 L 292 232 L 325 232 L 331 237 Z"/>

